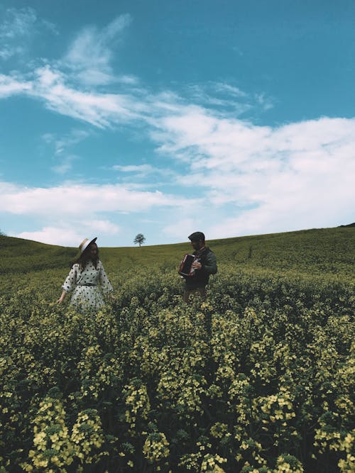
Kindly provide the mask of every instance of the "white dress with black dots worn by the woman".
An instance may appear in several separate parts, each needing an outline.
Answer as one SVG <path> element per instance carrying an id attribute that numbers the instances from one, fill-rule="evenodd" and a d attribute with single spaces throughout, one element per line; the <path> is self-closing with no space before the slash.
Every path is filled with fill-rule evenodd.
<path id="1" fill-rule="evenodd" d="M 89 261 L 84 269 L 80 269 L 80 265 L 75 263 L 62 288 L 66 293 L 74 290 L 70 304 L 80 306 L 82 309 L 97 309 L 104 305 L 99 284 L 104 294 L 113 290 L 102 262 L 99 261 L 97 268 L 95 268 L 94 264 Z"/>

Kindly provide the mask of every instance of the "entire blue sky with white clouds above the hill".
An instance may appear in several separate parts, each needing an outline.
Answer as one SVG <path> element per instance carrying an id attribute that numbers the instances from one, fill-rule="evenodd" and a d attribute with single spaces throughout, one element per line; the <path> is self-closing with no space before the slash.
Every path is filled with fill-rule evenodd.
<path id="1" fill-rule="evenodd" d="M 0 229 L 77 246 L 354 221 L 354 1 L 0 0 Z"/>

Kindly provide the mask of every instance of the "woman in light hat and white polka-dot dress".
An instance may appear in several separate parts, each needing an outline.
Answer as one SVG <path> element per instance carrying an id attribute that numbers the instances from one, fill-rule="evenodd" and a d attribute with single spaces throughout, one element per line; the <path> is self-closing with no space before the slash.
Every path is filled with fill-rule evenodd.
<path id="1" fill-rule="evenodd" d="M 62 304 L 67 293 L 75 288 L 70 304 L 84 310 L 97 309 L 104 305 L 104 299 L 98 284 L 101 285 L 104 294 L 108 294 L 113 290 L 104 270 L 104 265 L 99 260 L 96 240 L 97 238 L 91 241 L 85 238 L 80 243 L 81 255 L 72 265 L 72 269 L 70 269 L 70 273 L 62 285 L 63 291 L 58 299 L 59 304 Z"/>

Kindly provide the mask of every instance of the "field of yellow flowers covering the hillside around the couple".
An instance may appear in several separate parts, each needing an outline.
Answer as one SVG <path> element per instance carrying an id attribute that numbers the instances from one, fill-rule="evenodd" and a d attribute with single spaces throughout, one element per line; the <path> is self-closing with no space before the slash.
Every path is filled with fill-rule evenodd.
<path id="1" fill-rule="evenodd" d="M 58 306 L 70 248 L 0 237 L 0 472 L 352 473 L 354 228 L 104 248 L 114 296 Z"/>

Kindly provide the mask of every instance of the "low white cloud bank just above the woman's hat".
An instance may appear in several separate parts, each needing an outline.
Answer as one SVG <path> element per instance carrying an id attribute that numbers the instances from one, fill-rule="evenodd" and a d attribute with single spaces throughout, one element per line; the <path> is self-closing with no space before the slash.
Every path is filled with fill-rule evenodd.
<path id="1" fill-rule="evenodd" d="M 0 214 L 26 216 L 32 222 L 40 222 L 39 230 L 11 232 L 12 235 L 55 245 L 77 246 L 86 235 L 107 235 L 107 240 L 112 235 L 121 235 L 121 225 L 130 219 L 133 227 L 154 213 L 170 213 L 175 208 L 180 211 L 190 206 L 189 200 L 179 196 L 119 185 L 68 183 L 43 189 L 0 182 L 0 194 Z M 132 213 L 138 217 L 131 217 Z"/>

